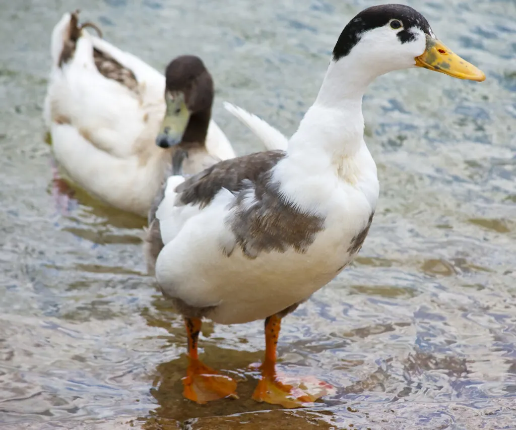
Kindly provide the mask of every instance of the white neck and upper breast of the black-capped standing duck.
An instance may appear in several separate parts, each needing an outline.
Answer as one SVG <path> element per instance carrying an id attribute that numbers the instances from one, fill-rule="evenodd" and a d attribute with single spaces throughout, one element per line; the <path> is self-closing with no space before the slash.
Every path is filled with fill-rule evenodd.
<path id="1" fill-rule="evenodd" d="M 377 185 L 362 116 L 364 91 L 376 76 L 363 73 L 348 58 L 330 63 L 315 103 L 288 141 L 288 156 L 273 171 L 282 193 L 314 213 L 328 205 L 343 182 Z"/>

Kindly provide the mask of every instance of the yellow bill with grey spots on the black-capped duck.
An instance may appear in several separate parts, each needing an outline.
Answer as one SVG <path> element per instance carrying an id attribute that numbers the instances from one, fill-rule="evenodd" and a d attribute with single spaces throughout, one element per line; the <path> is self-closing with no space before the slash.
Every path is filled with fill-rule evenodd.
<path id="1" fill-rule="evenodd" d="M 470 81 L 482 82 L 486 75 L 471 63 L 450 51 L 440 40 L 426 35 L 426 50 L 416 57 L 416 66 L 459 79 L 470 79 Z"/>

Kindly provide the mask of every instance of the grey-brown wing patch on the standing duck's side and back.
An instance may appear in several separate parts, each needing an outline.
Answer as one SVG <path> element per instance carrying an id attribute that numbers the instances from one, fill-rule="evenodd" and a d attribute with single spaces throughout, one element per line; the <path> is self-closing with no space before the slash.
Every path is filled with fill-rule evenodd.
<path id="1" fill-rule="evenodd" d="M 235 195 L 226 219 L 236 244 L 248 258 L 260 252 L 305 252 L 324 229 L 324 217 L 296 208 L 271 182 L 270 170 L 283 151 L 266 151 L 222 161 L 178 185 L 179 204 L 207 205 L 220 189 Z M 231 251 L 223 250 L 230 256 Z"/>

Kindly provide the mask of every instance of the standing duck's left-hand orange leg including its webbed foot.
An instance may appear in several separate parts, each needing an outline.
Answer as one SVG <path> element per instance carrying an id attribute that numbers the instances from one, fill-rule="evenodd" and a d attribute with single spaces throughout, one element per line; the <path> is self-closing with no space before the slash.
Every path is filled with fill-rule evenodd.
<path id="1" fill-rule="evenodd" d="M 206 402 L 232 397 L 236 395 L 236 382 L 229 376 L 221 375 L 214 369 L 207 367 L 199 360 L 197 353 L 197 340 L 201 331 L 199 318 L 185 318 L 186 332 L 188 335 L 188 369 L 183 378 L 183 395 L 196 403 Z"/>

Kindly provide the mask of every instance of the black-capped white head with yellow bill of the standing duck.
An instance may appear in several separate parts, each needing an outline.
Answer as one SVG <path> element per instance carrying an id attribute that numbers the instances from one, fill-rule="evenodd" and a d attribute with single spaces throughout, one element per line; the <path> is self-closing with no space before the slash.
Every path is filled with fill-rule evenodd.
<path id="1" fill-rule="evenodd" d="M 475 66 L 450 51 L 433 34 L 426 18 L 406 5 L 378 5 L 359 12 L 342 30 L 333 49 L 334 62 L 350 59 L 376 76 L 424 67 L 449 76 L 483 81 Z"/>

